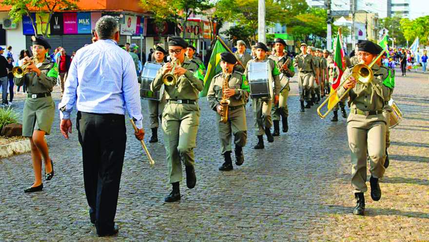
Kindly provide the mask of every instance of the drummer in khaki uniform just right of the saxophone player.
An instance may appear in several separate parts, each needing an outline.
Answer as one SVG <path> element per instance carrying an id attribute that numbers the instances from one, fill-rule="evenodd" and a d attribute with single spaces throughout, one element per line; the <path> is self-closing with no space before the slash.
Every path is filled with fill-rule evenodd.
<path id="1" fill-rule="evenodd" d="M 280 80 L 279 80 L 280 72 L 277 68 L 277 64 L 273 60 L 266 58 L 266 55 L 268 52 L 267 46 L 262 42 L 257 42 L 255 47 L 256 47 L 256 51 L 255 51 L 256 58 L 247 62 L 246 70 L 244 71 L 246 80 L 249 80 L 249 65 L 251 63 L 254 63 L 257 61 L 264 61 L 264 60 L 267 60 L 268 63 L 270 64 L 270 67 L 272 70 L 271 75 L 273 76 L 273 80 L 274 80 L 274 87 L 273 87 L 274 100 L 273 99 L 267 99 L 267 100 L 252 99 L 252 108 L 254 112 L 254 127 L 256 129 L 256 136 L 258 137 L 258 143 L 254 146 L 254 148 L 263 149 L 265 147 L 264 140 L 263 140 L 264 133 L 267 135 L 268 142 L 274 141 L 274 137 L 270 131 L 271 126 L 273 126 L 273 121 L 271 119 L 271 108 L 273 106 L 273 101 L 274 101 L 274 104 L 277 104 L 279 100 L 279 94 L 281 89 Z M 267 90 L 267 92 L 269 91 L 270 90 Z"/>

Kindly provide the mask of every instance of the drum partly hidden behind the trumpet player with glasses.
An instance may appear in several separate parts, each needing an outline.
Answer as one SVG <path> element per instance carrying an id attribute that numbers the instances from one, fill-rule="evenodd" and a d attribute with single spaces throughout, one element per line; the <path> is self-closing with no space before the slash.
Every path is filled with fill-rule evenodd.
<path id="1" fill-rule="evenodd" d="M 156 72 L 162 67 L 162 64 L 155 62 L 146 62 L 141 73 L 141 87 L 140 98 L 146 100 L 161 101 L 164 93 L 164 85 L 159 91 L 153 92 L 151 90 L 151 83 L 156 77 Z"/>

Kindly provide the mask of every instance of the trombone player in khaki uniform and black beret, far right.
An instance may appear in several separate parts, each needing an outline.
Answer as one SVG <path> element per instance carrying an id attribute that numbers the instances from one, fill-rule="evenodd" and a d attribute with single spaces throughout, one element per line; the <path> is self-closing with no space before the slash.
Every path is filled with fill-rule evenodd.
<path id="1" fill-rule="evenodd" d="M 382 48 L 368 40 L 358 44 L 359 62 L 367 66 L 376 58 Z M 353 214 L 363 215 L 365 211 L 364 192 L 367 191 L 367 151 L 370 159 L 370 187 L 371 198 L 378 201 L 381 198 L 381 189 L 378 179 L 385 172 L 384 159 L 386 150 L 386 119 L 383 117 L 385 101 L 390 97 L 391 89 L 383 81 L 389 77 L 389 69 L 374 64 L 373 76 L 368 83 L 357 82 L 350 77 L 352 68 L 347 69 L 341 81 L 343 86 L 338 87 L 337 96 L 341 97 L 347 89 L 351 112 L 347 119 L 347 135 L 351 149 L 351 185 L 353 187 L 356 206 Z M 347 80 L 347 81 L 346 81 Z"/>

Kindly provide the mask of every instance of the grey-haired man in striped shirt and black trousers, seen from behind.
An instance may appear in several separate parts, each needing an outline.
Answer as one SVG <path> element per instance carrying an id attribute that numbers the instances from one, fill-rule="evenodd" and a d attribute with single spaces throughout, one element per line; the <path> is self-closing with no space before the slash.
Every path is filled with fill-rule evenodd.
<path id="1" fill-rule="evenodd" d="M 71 63 L 59 103 L 60 129 L 68 139 L 76 104 L 90 219 L 98 236 L 110 236 L 118 232 L 114 220 L 127 140 L 126 111 L 139 128 L 138 140 L 143 140 L 144 131 L 136 67 L 130 54 L 117 45 L 115 18 L 99 19 L 96 37 L 98 41 L 79 49 Z"/>

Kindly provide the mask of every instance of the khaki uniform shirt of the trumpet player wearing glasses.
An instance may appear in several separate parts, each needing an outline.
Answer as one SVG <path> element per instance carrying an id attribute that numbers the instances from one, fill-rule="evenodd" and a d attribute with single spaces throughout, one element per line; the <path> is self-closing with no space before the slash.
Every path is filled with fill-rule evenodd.
<path id="1" fill-rule="evenodd" d="M 167 100 L 188 99 L 197 101 L 198 93 L 204 87 L 203 82 L 195 76 L 196 72 L 198 71 L 198 65 L 193 61 L 185 59 L 181 66 L 188 71 L 185 72 L 184 75 L 177 78 L 176 85 L 164 86 L 165 98 Z M 151 90 L 153 92 L 158 91 L 164 84 L 162 81 L 162 70 L 163 68 L 158 70 L 154 81 L 151 83 Z"/>

